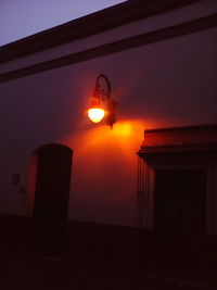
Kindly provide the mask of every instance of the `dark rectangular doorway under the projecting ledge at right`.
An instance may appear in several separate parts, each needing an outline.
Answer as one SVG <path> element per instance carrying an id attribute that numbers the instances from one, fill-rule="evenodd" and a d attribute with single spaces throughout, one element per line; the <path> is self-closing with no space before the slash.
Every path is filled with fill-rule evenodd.
<path id="1" fill-rule="evenodd" d="M 206 172 L 159 169 L 154 184 L 156 254 L 195 262 L 206 232 Z"/>

